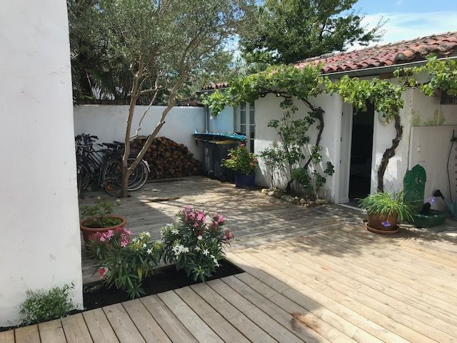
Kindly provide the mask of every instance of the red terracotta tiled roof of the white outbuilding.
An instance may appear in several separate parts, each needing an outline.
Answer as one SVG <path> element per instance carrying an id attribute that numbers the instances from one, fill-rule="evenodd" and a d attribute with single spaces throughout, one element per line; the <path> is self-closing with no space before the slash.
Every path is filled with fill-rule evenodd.
<path id="1" fill-rule="evenodd" d="M 457 55 L 457 32 L 434 34 L 433 36 L 412 39 L 410 41 L 370 46 L 365 49 L 338 54 L 326 54 L 305 59 L 294 65 L 297 68 L 302 68 L 308 64 L 323 63 L 321 71 L 323 74 L 328 74 L 377 66 L 392 66 L 393 64 L 403 64 L 410 61 L 422 61 L 431 53 L 438 56 Z"/>

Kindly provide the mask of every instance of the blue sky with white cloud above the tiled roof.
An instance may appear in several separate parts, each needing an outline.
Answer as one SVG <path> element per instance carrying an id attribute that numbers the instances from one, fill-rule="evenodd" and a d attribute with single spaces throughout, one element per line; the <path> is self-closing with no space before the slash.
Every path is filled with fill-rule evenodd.
<path id="1" fill-rule="evenodd" d="M 368 27 L 387 19 L 380 43 L 393 43 L 457 31 L 456 5 L 457 0 L 359 0 L 354 8 L 365 14 Z"/>

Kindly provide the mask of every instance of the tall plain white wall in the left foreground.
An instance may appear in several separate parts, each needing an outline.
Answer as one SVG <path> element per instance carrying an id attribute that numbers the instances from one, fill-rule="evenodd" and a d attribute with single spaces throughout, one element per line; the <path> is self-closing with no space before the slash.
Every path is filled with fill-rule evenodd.
<path id="1" fill-rule="evenodd" d="M 82 277 L 65 1 L 3 1 L 0 46 L 2 327 L 29 289 L 82 304 Z"/>

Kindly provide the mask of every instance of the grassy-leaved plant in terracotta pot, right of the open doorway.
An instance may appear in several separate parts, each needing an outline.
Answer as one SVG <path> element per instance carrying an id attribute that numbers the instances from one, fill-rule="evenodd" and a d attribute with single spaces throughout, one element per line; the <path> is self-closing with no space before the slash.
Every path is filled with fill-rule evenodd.
<path id="1" fill-rule="evenodd" d="M 403 202 L 403 193 L 378 192 L 359 202 L 368 214 L 366 228 L 378 234 L 395 234 L 398 222 L 411 221 L 413 207 Z"/>

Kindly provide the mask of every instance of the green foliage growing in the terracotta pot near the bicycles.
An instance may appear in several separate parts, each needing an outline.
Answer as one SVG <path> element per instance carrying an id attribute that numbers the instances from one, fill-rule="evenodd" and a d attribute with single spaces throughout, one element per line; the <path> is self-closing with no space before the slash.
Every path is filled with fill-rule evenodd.
<path id="1" fill-rule="evenodd" d="M 116 206 L 121 204 L 119 199 L 115 202 Z M 115 227 L 121 224 L 117 218 L 107 217 L 113 213 L 113 204 L 107 200 L 97 197 L 95 204 L 83 205 L 79 209 L 81 217 L 85 219 L 84 226 L 92 228 Z"/>

